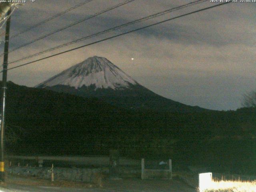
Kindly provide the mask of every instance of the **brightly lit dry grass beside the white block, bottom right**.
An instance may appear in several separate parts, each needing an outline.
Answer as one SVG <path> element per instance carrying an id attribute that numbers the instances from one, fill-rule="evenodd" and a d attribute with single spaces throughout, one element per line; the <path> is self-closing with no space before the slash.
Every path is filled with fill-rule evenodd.
<path id="1" fill-rule="evenodd" d="M 204 192 L 256 192 L 256 180 L 242 181 L 213 181 Z"/>

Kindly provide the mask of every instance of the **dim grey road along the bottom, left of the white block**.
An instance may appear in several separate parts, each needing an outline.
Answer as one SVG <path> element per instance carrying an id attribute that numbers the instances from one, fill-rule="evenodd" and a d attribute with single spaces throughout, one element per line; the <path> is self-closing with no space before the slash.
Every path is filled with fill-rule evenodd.
<path id="1" fill-rule="evenodd" d="M 8 184 L 0 192 L 196 192 L 184 182 L 173 180 L 105 180 L 102 188 L 68 188 L 60 186 L 34 186 Z"/>

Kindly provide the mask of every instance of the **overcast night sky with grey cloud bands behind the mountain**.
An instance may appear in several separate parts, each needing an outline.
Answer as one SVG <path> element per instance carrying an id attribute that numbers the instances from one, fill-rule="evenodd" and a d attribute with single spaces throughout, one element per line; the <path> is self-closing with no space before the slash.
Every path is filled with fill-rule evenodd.
<path id="1" fill-rule="evenodd" d="M 11 39 L 10 50 L 124 1 L 93 0 Z M 12 14 L 11 35 L 80 2 L 84 0 L 27 0 Z M 9 61 L 188 2 L 192 1 L 135 0 L 11 52 Z M 209 0 L 18 64 L 214 4 Z M 236 110 L 241 107 L 243 94 L 256 89 L 255 10 L 256 3 L 247 2 L 218 6 L 10 70 L 8 80 L 32 87 L 96 55 L 106 57 L 137 82 L 166 98 L 208 109 Z M 3 43 L 0 48 L 3 51 Z M 9 68 L 15 65 L 10 64 Z"/>

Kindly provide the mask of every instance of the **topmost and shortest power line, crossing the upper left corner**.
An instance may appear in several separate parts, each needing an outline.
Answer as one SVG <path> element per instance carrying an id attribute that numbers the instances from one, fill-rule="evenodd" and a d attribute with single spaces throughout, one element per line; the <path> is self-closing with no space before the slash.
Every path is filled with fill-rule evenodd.
<path id="1" fill-rule="evenodd" d="M 17 36 L 19 36 L 19 35 L 21 35 L 21 34 L 23 34 L 23 33 L 25 33 L 25 32 L 28 32 L 28 31 L 30 31 L 30 30 L 32 30 L 32 29 L 34 29 L 34 28 L 36 28 L 36 27 L 38 27 L 38 26 L 40 26 L 40 25 L 42 25 L 42 24 L 45 24 L 46 22 L 48 22 L 48 21 L 50 21 L 50 20 L 53 20 L 53 19 L 55 19 L 55 18 L 57 18 L 57 17 L 59 17 L 59 16 L 62 16 L 63 14 L 65 14 L 65 13 L 67 13 L 67 12 L 70 12 L 70 11 L 72 11 L 72 10 L 74 10 L 74 9 L 76 9 L 76 8 L 78 8 L 78 7 L 80 7 L 80 6 L 83 6 L 84 4 L 89 3 L 89 2 L 91 2 L 91 1 L 93 1 L 93 0 L 86 0 L 86 1 L 84 1 L 84 2 L 82 2 L 82 3 L 80 3 L 80 4 L 77 4 L 77 5 L 75 5 L 75 6 L 71 7 L 71 8 L 69 8 L 69 9 L 67 9 L 67 10 L 64 10 L 64 11 L 62 11 L 62 12 L 60 12 L 60 13 L 58 13 L 58 14 L 56 14 L 56 15 L 54 15 L 54 16 L 52 16 L 52 17 L 46 19 L 46 20 L 43 20 L 43 21 L 39 22 L 38 24 L 35 24 L 35 25 L 33 25 L 33 26 L 31 26 L 31 27 L 29 27 L 29 28 L 23 30 L 22 32 L 19 32 L 19 33 L 16 33 L 16 34 L 10 36 L 10 39 L 15 38 L 15 37 L 17 37 Z"/>

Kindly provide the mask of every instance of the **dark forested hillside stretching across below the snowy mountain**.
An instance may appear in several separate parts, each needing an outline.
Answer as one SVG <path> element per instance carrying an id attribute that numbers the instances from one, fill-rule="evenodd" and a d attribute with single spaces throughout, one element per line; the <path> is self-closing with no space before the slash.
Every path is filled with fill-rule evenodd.
<path id="1" fill-rule="evenodd" d="M 9 154 L 170 157 L 216 170 L 256 171 L 256 109 L 167 113 L 8 83 Z M 239 165 L 239 169 L 237 166 Z"/>

